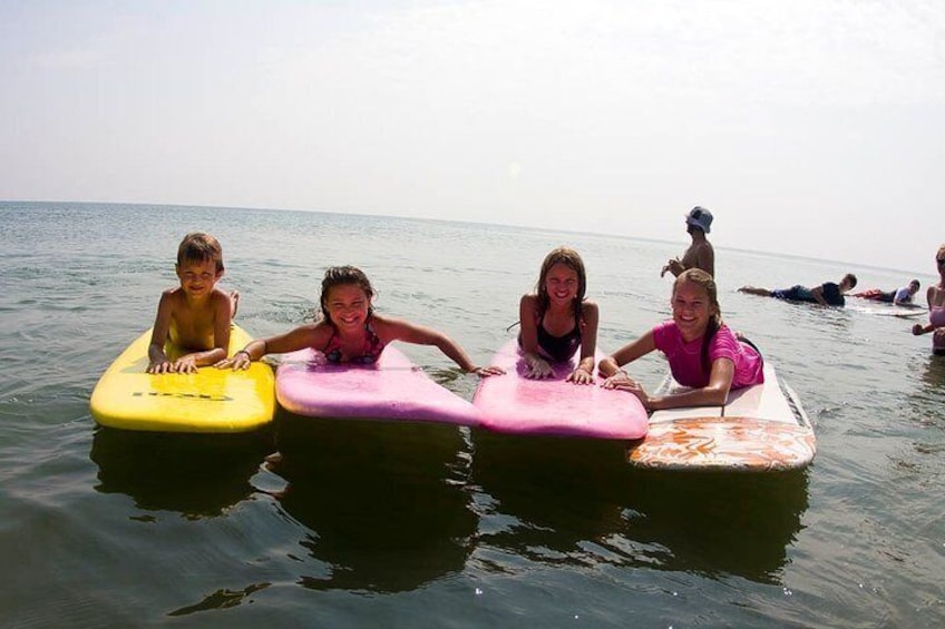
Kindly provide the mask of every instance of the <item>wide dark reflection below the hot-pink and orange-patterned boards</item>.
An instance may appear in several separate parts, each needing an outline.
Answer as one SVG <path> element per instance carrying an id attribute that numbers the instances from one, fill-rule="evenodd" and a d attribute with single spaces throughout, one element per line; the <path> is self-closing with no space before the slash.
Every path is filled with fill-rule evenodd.
<path id="1" fill-rule="evenodd" d="M 535 561 L 777 583 L 807 509 L 803 471 L 645 472 L 621 443 L 474 436 L 472 481 L 495 501 L 480 541 Z"/>

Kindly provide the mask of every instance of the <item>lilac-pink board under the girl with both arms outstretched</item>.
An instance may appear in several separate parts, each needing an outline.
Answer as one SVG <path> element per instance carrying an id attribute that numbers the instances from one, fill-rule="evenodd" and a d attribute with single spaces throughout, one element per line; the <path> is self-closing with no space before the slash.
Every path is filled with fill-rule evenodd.
<path id="1" fill-rule="evenodd" d="M 433 382 L 388 345 L 373 365 L 331 364 L 315 350 L 283 357 L 275 392 L 286 411 L 312 417 L 363 417 L 479 425 L 472 404 Z"/>

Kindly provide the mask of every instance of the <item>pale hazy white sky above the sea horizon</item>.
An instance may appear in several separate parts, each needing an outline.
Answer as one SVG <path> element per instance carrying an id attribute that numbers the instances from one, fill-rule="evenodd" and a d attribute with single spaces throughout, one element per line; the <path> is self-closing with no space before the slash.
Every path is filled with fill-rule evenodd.
<path id="1" fill-rule="evenodd" d="M 0 86 L 6 200 L 945 242 L 941 0 L 0 0 Z"/>

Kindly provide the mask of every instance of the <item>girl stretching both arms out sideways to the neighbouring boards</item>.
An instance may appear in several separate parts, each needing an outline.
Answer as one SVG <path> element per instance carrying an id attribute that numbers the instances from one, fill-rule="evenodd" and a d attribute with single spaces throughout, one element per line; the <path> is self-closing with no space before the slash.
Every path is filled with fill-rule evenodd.
<path id="1" fill-rule="evenodd" d="M 374 291 L 364 273 L 353 266 L 333 266 L 322 279 L 322 317 L 315 323 L 284 334 L 253 341 L 217 367 L 249 368 L 252 361 L 266 354 L 282 354 L 305 347 L 324 353 L 333 363 L 374 363 L 392 341 L 436 345 L 462 371 L 479 375 L 504 373 L 499 367 L 480 367 L 452 338 L 442 332 L 407 321 L 376 314 L 371 306 Z"/>

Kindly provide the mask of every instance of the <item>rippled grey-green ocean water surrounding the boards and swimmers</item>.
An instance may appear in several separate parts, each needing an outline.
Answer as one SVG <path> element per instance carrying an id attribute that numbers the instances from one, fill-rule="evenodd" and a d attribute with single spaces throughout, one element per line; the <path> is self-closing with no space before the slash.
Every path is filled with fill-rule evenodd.
<path id="1" fill-rule="evenodd" d="M 223 243 L 223 285 L 255 335 L 309 321 L 324 268 L 354 264 L 379 311 L 479 363 L 552 247 L 584 256 L 611 350 L 669 315 L 659 269 L 683 242 L 91 204 L 0 203 L 0 227 L 3 626 L 945 622 L 945 360 L 879 306 L 735 292 L 908 274 L 718 250 L 724 317 L 798 392 L 818 455 L 789 474 L 659 474 L 630 469 L 622 444 L 281 411 L 251 435 L 125 433 L 97 427 L 88 399 L 152 324 L 187 232 Z M 405 351 L 471 399 L 475 376 Z M 631 367 L 650 385 L 664 371 L 659 356 Z"/>

